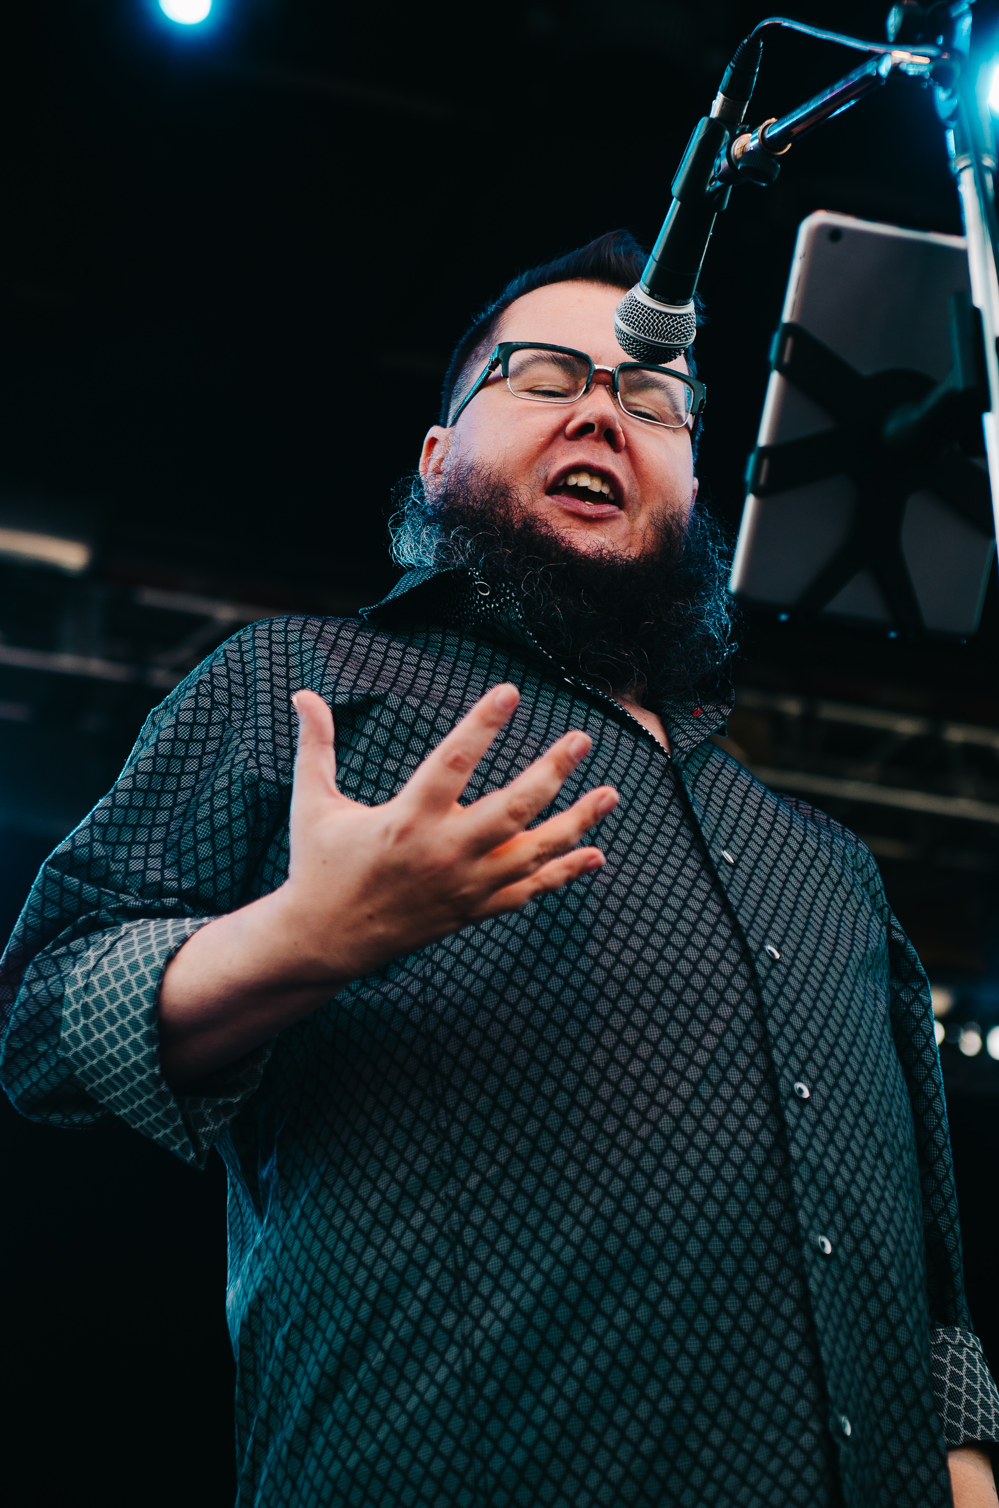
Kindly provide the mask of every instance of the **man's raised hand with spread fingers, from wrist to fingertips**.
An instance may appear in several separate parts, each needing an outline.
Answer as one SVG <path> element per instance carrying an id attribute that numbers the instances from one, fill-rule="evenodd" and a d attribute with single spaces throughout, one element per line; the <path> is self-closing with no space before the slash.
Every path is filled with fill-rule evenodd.
<path id="1" fill-rule="evenodd" d="M 459 804 L 518 701 L 515 686 L 489 692 L 394 801 L 365 807 L 337 789 L 329 707 L 312 691 L 293 697 L 300 725 L 285 896 L 302 967 L 317 980 L 358 979 L 604 863 L 599 849 L 575 844 L 617 804 L 607 786 L 524 831 L 589 752 L 586 733 L 566 733 L 506 789 Z"/>

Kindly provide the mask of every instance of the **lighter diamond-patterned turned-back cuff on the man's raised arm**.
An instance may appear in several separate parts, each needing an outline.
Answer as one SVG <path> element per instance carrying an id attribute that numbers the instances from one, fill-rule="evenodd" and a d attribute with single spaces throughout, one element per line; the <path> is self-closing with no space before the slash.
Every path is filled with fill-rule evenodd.
<path id="1" fill-rule="evenodd" d="M 100 935 L 66 979 L 62 1056 L 92 1099 L 204 1167 L 260 1084 L 270 1044 L 178 1093 L 160 1069 L 157 997 L 166 965 L 210 917 L 131 921 Z"/>

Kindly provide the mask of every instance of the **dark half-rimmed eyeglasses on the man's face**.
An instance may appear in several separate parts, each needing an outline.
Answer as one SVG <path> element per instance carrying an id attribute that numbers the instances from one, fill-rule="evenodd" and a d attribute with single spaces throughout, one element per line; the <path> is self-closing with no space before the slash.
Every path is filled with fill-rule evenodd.
<path id="1" fill-rule="evenodd" d="M 486 386 L 496 366 L 513 397 L 530 403 L 578 403 L 590 391 L 596 372 L 610 372 L 622 413 L 667 430 L 682 430 L 693 418 L 691 433 L 696 433 L 705 407 L 705 385 L 672 366 L 644 366 L 641 362 L 598 366 L 586 351 L 573 351 L 567 345 L 501 341 L 459 403 L 451 424 Z"/>

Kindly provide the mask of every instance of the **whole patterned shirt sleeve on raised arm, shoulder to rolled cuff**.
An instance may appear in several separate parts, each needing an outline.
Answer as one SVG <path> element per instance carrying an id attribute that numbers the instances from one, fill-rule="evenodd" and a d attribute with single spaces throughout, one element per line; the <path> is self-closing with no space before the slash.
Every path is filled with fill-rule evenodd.
<path id="1" fill-rule="evenodd" d="M 183 1092 L 160 1069 L 169 961 L 252 899 L 287 820 L 290 771 L 261 772 L 228 716 L 238 638 L 151 715 L 113 790 L 42 866 L 0 961 L 0 1083 L 18 1110 L 62 1126 L 118 1116 L 196 1166 L 270 1053 Z"/>

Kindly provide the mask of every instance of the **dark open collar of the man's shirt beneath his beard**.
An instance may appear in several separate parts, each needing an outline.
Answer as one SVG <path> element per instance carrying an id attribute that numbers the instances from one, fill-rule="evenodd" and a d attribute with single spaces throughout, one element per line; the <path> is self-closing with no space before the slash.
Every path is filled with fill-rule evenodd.
<path id="1" fill-rule="evenodd" d="M 617 706 L 582 676 L 569 674 L 567 667 L 542 648 L 524 618 L 519 594 L 512 585 L 486 581 L 465 566 L 420 566 L 409 570 L 388 597 L 371 608 L 362 608 L 361 617 L 382 629 L 407 629 L 417 623 L 441 624 L 480 633 L 500 644 L 513 644 L 531 659 L 540 657 L 546 670 L 558 670 L 572 685 Z M 670 692 L 652 710 L 662 718 L 670 746 L 682 759 L 712 733 L 724 731 L 732 704 L 732 679 L 727 667 L 723 667 L 690 689 Z"/>

